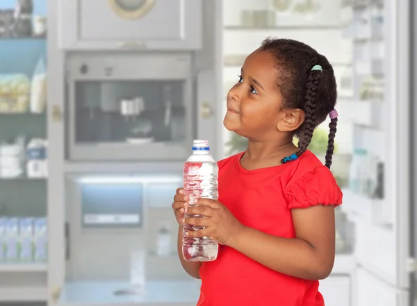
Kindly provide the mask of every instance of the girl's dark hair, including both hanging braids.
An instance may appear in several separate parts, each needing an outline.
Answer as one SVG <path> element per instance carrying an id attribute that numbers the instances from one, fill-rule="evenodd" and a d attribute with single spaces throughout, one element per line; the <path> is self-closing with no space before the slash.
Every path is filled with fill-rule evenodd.
<path id="1" fill-rule="evenodd" d="M 295 154 L 298 157 L 307 150 L 314 129 L 334 110 L 337 90 L 333 67 L 325 56 L 296 40 L 266 38 L 260 50 L 270 52 L 276 60 L 279 71 L 277 86 L 284 97 L 283 107 L 301 108 L 305 111 L 304 122 L 295 131 L 295 136 L 299 139 L 300 150 Z M 322 71 L 311 70 L 315 65 L 320 65 Z M 325 162 L 327 168 L 332 166 L 336 125 L 337 118 L 331 119 Z M 291 158 L 281 162 L 289 160 Z"/>

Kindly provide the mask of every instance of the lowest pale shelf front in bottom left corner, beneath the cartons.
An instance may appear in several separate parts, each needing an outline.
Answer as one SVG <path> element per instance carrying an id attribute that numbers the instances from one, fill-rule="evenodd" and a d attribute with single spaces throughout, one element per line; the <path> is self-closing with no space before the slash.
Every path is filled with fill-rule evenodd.
<path id="1" fill-rule="evenodd" d="M 0 287 L 0 302 L 44 302 L 47 287 Z"/>

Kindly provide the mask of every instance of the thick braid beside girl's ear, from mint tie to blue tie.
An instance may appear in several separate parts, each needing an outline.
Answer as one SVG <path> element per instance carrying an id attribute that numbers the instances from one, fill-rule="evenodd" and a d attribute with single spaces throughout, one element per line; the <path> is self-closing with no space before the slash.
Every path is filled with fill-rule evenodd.
<path id="1" fill-rule="evenodd" d="M 316 60 L 315 60 L 316 61 Z M 311 69 L 311 67 L 309 67 Z M 295 156 L 290 156 L 290 158 L 285 157 L 281 159 L 281 163 L 286 163 L 287 161 L 291 161 L 300 157 L 301 154 L 306 152 L 307 147 L 311 142 L 311 138 L 313 138 L 313 131 L 316 128 L 316 97 L 317 97 L 317 90 L 320 79 L 322 78 L 321 71 L 310 71 L 309 77 L 307 78 L 306 82 L 306 95 L 305 99 L 306 102 L 304 104 L 304 111 L 306 113 L 304 118 L 304 124 L 302 127 L 302 136 L 298 141 L 298 147 L 300 150 L 295 153 Z"/>

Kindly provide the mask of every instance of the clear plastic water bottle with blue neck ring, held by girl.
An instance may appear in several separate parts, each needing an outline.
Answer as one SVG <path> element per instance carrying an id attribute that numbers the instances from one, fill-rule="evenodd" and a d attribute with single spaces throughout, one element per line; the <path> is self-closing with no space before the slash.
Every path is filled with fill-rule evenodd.
<path id="1" fill-rule="evenodd" d="M 183 191 L 188 195 L 190 207 L 198 198 L 218 200 L 218 164 L 210 155 L 207 140 L 193 141 L 193 154 L 187 159 L 183 167 Z M 190 215 L 185 217 L 202 217 Z M 186 261 L 213 261 L 218 256 L 219 245 L 208 237 L 193 238 L 186 236 L 186 232 L 201 230 L 204 227 L 193 225 L 183 226 L 182 252 Z"/>

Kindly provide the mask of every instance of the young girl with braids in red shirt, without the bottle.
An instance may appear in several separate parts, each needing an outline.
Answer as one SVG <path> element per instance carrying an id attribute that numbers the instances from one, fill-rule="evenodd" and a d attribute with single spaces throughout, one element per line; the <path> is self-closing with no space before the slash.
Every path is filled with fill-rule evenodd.
<path id="1" fill-rule="evenodd" d="M 247 150 L 218 162 L 218 201 L 200 199 L 183 218 L 181 188 L 172 207 L 180 224 L 183 268 L 202 279 L 199 306 L 323 306 L 318 280 L 332 271 L 334 207 L 342 193 L 332 165 L 337 112 L 332 65 L 294 40 L 266 39 L 245 60 L 227 95 L 224 127 L 248 139 Z M 325 166 L 307 147 L 330 117 Z M 299 138 L 298 147 L 293 136 Z M 220 243 L 218 259 L 184 261 L 182 225 L 190 237 Z"/>

